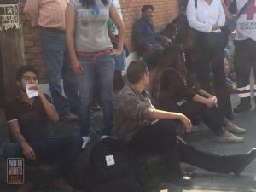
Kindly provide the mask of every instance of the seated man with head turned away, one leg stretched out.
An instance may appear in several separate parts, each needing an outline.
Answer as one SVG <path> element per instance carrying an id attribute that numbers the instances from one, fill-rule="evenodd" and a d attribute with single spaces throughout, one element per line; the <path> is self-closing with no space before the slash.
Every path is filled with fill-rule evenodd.
<path id="1" fill-rule="evenodd" d="M 127 143 L 136 155 L 161 154 L 172 182 L 191 184 L 183 177 L 179 162 L 198 166 L 211 172 L 239 175 L 256 157 L 256 148 L 247 154 L 220 156 L 199 151 L 177 137 L 173 119 L 180 120 L 185 131 L 192 124 L 182 113 L 161 111 L 151 104 L 146 88 L 149 84 L 148 67 L 143 61 L 133 61 L 127 69 L 129 83 L 119 92 L 115 105 L 116 135 Z"/>

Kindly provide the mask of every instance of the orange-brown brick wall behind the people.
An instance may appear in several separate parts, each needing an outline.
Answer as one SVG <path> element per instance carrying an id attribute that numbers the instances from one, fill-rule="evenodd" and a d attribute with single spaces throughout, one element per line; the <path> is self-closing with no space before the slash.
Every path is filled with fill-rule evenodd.
<path id="1" fill-rule="evenodd" d="M 22 6 L 26 0 L 21 0 Z M 133 44 L 131 40 L 131 30 L 133 23 L 141 15 L 141 8 L 144 4 L 154 5 L 154 26 L 156 30 L 160 30 L 170 21 L 172 21 L 178 14 L 177 0 L 120 0 L 122 5 L 123 17 L 126 26 L 126 39 L 130 51 L 133 51 Z M 32 63 L 40 71 L 40 79 L 45 78 L 44 65 L 40 49 L 39 29 L 32 28 L 26 15 L 22 15 L 24 46 L 26 62 Z"/>

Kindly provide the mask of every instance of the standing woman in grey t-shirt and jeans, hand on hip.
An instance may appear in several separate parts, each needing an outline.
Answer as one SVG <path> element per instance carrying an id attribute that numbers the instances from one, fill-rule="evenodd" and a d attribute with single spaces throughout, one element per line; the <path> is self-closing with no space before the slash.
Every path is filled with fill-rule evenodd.
<path id="1" fill-rule="evenodd" d="M 108 19 L 119 28 L 117 49 L 108 36 Z M 85 148 L 90 141 L 90 106 L 93 87 L 97 89 L 103 108 L 102 137 L 109 136 L 113 127 L 113 56 L 122 54 L 125 26 L 112 1 L 70 0 L 66 12 L 67 45 L 73 72 L 79 77 L 79 122 Z"/>

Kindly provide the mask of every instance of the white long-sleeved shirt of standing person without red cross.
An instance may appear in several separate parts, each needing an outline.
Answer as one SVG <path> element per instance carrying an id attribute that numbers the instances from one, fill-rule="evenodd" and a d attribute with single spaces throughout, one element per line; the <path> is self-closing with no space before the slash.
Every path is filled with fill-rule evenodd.
<path id="1" fill-rule="evenodd" d="M 220 29 L 212 31 L 212 26 L 217 22 L 218 26 L 224 26 L 226 20 L 220 0 L 212 0 L 210 5 L 205 0 L 189 0 L 187 18 L 189 26 L 200 32 L 220 32 Z"/>

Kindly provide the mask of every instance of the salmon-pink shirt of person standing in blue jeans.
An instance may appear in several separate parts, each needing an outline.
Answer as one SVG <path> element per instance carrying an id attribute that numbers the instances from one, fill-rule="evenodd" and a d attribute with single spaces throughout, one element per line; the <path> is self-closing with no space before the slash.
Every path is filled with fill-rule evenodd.
<path id="1" fill-rule="evenodd" d="M 32 26 L 65 30 L 65 10 L 68 0 L 26 0 L 24 13 Z"/>

